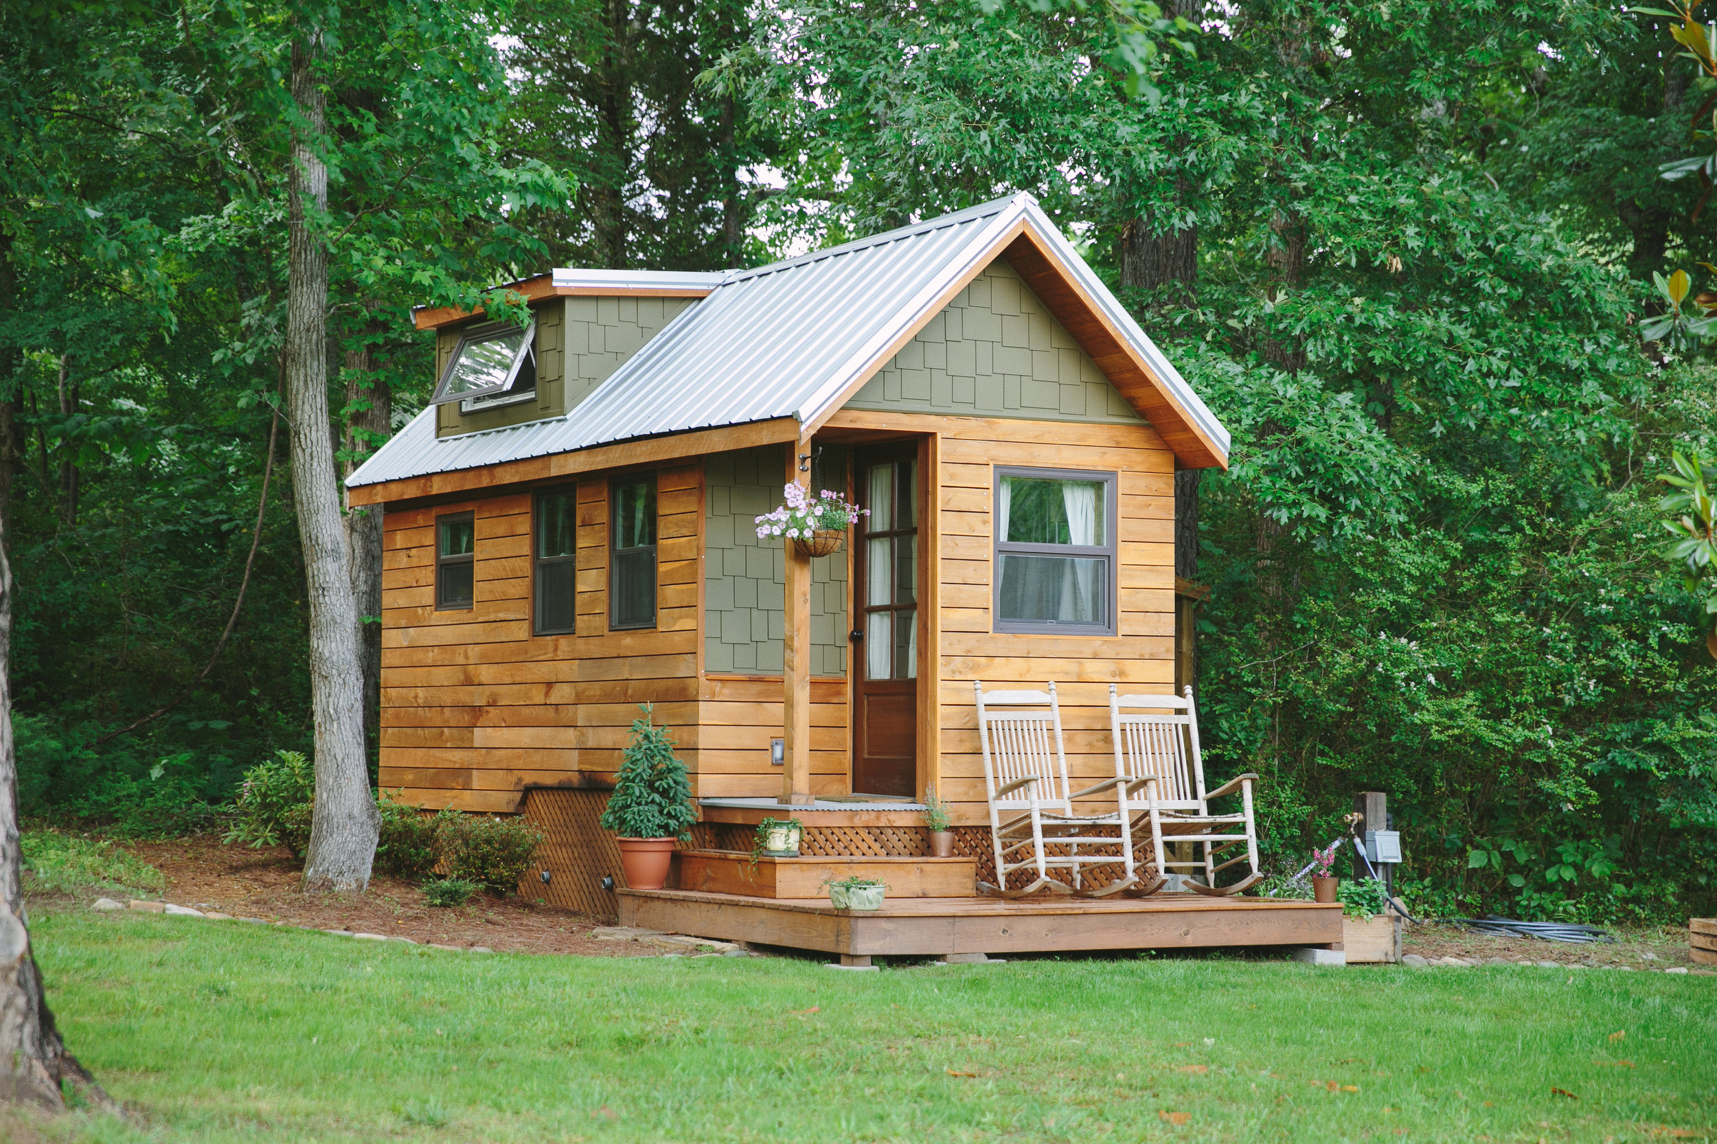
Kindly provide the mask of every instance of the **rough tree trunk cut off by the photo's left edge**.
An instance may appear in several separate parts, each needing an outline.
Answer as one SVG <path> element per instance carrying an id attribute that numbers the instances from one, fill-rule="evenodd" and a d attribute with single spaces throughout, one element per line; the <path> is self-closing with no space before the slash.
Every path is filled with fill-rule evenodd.
<path id="1" fill-rule="evenodd" d="M 0 295 L 12 297 L 10 263 L 0 249 Z M 0 383 L 17 371 L 17 350 L 0 349 Z M 65 1089 L 112 1108 L 101 1086 L 65 1051 L 41 971 L 29 950 L 24 855 L 17 828 L 17 754 L 12 742 L 12 565 L 5 558 L 17 426 L 10 393 L 0 404 L 0 1101 L 65 1108 Z"/>

